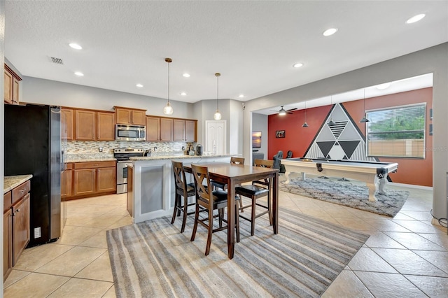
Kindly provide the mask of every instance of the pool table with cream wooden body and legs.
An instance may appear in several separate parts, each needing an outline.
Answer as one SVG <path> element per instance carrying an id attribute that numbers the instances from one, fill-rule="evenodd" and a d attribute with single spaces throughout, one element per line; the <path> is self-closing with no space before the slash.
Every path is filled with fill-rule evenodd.
<path id="1" fill-rule="evenodd" d="M 291 172 L 302 173 L 302 180 L 306 178 L 305 173 L 311 173 L 363 181 L 369 187 L 369 201 L 377 201 L 375 197 L 377 182 L 379 182 L 378 193 L 384 194 L 384 185 L 386 185 L 388 173 L 396 172 L 398 169 L 398 164 L 395 162 L 367 162 L 323 158 L 288 158 L 281 159 L 281 164 L 285 166 L 286 183 L 290 181 L 289 175 Z"/>

